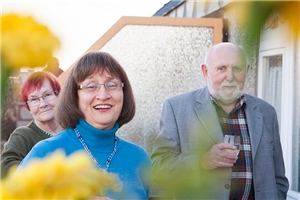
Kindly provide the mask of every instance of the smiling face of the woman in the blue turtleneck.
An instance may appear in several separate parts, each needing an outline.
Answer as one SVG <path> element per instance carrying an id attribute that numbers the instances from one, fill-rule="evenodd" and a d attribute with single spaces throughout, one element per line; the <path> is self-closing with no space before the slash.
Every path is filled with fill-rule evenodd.
<path id="1" fill-rule="evenodd" d="M 107 71 L 97 72 L 87 77 L 79 85 L 87 86 L 92 82 L 104 84 L 105 82 L 120 82 Z M 104 85 L 96 91 L 78 90 L 79 109 L 84 119 L 92 126 L 102 130 L 112 129 L 118 120 L 123 107 L 123 90 L 108 91 Z"/>

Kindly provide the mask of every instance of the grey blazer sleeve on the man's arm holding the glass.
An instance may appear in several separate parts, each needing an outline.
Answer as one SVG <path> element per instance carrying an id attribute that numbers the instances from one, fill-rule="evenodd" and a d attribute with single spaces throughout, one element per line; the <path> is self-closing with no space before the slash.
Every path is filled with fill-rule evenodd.
<path id="1" fill-rule="evenodd" d="M 197 152 L 182 152 L 177 122 L 186 119 L 181 119 L 176 114 L 170 101 L 166 100 L 162 108 L 160 133 L 155 139 L 151 154 L 154 182 L 170 184 L 182 178 L 192 183 L 195 181 L 193 177 L 199 177 L 200 156 Z M 185 174 L 184 171 L 189 173 Z M 182 175 L 184 177 L 180 177 Z"/>

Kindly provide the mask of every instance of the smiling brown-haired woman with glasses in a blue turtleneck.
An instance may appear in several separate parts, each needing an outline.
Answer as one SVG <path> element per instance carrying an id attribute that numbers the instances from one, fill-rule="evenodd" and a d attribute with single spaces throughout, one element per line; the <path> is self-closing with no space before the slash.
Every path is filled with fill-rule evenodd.
<path id="1" fill-rule="evenodd" d="M 21 163 L 57 149 L 85 150 L 98 168 L 118 174 L 121 192 L 112 199 L 148 199 L 151 160 L 146 151 L 116 136 L 135 114 L 128 77 L 108 53 L 89 52 L 71 70 L 59 97 L 56 119 L 65 130 L 39 142 Z"/>

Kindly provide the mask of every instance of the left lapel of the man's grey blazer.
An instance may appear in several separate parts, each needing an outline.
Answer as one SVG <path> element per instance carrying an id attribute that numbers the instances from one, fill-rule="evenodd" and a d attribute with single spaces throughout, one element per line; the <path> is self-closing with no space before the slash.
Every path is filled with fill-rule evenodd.
<path id="1" fill-rule="evenodd" d="M 198 104 L 194 107 L 194 110 L 197 113 L 201 125 L 216 143 L 223 142 L 222 129 L 216 110 L 210 99 L 208 88 L 203 88 L 203 90 L 197 94 L 196 100 Z"/>

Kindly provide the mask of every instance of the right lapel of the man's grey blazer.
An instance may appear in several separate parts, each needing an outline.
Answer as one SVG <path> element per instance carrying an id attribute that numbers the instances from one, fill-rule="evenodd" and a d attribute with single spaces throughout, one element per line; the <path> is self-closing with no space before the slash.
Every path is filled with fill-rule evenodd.
<path id="1" fill-rule="evenodd" d="M 262 136 L 263 114 L 256 110 L 256 105 L 251 101 L 251 97 L 246 96 L 246 101 L 246 118 L 251 141 L 252 160 L 254 161 Z"/>

